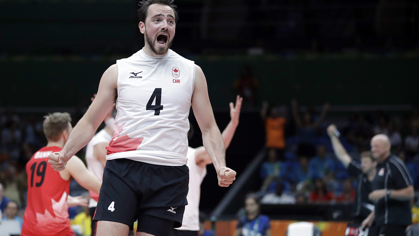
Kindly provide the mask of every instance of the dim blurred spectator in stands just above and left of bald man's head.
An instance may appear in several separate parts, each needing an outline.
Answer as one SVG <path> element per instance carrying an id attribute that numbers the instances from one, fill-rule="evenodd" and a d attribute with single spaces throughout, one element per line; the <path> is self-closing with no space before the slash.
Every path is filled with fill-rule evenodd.
<path id="1" fill-rule="evenodd" d="M 348 141 L 357 145 L 358 150 L 370 149 L 372 131 L 362 114 L 357 115 L 357 122 L 350 125 L 348 129 Z"/>

